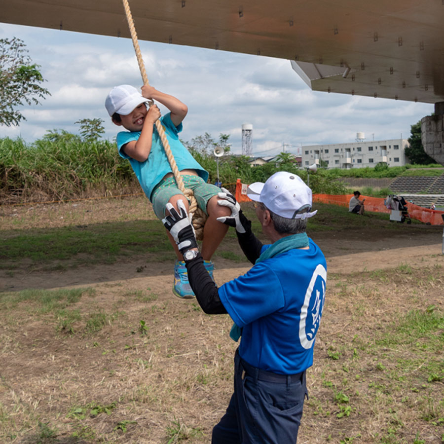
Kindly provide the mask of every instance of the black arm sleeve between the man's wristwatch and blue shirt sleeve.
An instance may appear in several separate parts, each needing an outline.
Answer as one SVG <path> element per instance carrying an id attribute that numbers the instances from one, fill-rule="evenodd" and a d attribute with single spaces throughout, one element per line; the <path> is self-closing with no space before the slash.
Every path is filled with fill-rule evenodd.
<path id="1" fill-rule="evenodd" d="M 185 265 L 189 284 L 202 310 L 207 314 L 226 313 L 219 298 L 218 287 L 205 269 L 202 256 L 199 254 L 195 259 L 186 260 Z"/>

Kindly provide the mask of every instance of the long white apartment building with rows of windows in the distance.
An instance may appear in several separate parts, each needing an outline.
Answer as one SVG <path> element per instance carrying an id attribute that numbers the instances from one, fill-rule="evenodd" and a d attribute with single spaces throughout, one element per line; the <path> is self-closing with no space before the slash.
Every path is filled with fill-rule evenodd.
<path id="1" fill-rule="evenodd" d="M 302 167 L 315 163 L 326 168 L 350 169 L 374 167 L 379 162 L 388 166 L 408 163 L 404 153 L 409 147 L 406 139 L 366 141 L 363 136 L 358 133 L 356 142 L 346 144 L 302 146 Z"/>

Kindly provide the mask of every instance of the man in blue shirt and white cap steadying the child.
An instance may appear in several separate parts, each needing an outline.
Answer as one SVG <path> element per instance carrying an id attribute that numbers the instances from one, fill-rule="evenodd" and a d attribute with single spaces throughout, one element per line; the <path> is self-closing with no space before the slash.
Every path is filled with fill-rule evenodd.
<path id="1" fill-rule="evenodd" d="M 327 265 L 305 229 L 311 189 L 295 174 L 278 172 L 249 186 L 256 215 L 271 244 L 262 245 L 227 190 L 219 218 L 236 228 L 239 244 L 255 265 L 218 288 L 206 272 L 185 207 L 167 204 L 163 222 L 184 255 L 188 278 L 205 313 L 228 313 L 230 336 L 240 339 L 234 358 L 234 393 L 214 427 L 214 444 L 294 444 L 307 396 L 305 370 L 324 307 Z"/>

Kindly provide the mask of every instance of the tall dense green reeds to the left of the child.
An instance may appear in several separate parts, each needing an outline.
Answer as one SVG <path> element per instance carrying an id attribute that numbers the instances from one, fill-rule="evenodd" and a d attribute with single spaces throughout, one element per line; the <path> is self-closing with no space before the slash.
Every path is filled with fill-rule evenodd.
<path id="1" fill-rule="evenodd" d="M 131 165 L 115 143 L 68 135 L 51 133 L 30 145 L 20 138 L 0 139 L 0 199 L 63 200 L 134 187 Z"/>

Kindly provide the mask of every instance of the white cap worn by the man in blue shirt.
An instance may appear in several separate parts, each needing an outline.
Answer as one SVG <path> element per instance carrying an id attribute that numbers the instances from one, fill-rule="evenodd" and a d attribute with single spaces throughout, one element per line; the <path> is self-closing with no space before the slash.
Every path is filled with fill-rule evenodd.
<path id="1" fill-rule="evenodd" d="M 286 219 L 307 219 L 318 211 L 310 212 L 311 189 L 299 176 L 286 171 L 274 173 L 265 183 L 255 182 L 249 185 L 247 196 Z"/>

